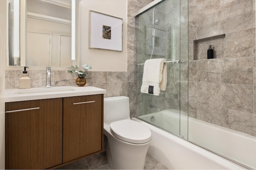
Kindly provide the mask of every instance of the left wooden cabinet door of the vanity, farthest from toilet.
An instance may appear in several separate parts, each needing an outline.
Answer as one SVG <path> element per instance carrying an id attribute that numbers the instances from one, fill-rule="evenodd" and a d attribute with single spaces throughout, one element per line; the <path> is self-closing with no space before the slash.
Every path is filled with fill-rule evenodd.
<path id="1" fill-rule="evenodd" d="M 62 163 L 62 98 L 9 102 L 5 108 L 14 111 L 5 118 L 6 169 L 46 169 Z"/>

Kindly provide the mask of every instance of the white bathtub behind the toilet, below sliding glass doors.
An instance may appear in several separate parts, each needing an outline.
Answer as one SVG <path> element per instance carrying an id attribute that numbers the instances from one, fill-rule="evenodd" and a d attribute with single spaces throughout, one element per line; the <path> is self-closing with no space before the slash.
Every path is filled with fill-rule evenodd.
<path id="1" fill-rule="evenodd" d="M 148 153 L 169 169 L 256 169 L 256 137 L 167 110 L 143 115 L 140 119 L 174 134 L 180 133 L 181 137 L 138 118 L 132 119 L 149 127 L 152 141 Z M 188 137 L 189 141 L 182 137 Z"/>

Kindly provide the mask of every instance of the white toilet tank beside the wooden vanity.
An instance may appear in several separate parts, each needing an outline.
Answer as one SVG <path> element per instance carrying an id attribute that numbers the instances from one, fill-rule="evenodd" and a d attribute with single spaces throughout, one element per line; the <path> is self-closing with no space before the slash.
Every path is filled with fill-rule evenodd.
<path id="1" fill-rule="evenodd" d="M 130 119 L 129 98 L 115 96 L 104 98 L 104 123 Z"/>

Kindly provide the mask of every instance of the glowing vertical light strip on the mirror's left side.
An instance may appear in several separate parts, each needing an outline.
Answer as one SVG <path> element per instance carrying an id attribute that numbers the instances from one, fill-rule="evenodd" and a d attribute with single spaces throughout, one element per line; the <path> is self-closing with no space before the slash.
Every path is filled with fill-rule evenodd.
<path id="1" fill-rule="evenodd" d="M 20 0 L 14 0 L 13 18 L 13 57 L 20 57 Z"/>

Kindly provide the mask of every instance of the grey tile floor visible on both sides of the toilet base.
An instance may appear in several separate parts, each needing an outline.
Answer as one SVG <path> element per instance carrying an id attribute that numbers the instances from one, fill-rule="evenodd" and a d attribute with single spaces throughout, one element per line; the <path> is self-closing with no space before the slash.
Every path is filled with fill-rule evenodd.
<path id="1" fill-rule="evenodd" d="M 57 169 L 84 169 L 84 170 L 111 170 L 108 160 L 106 158 L 106 151 L 90 156 L 88 158 L 84 158 L 78 160 L 77 162 L 73 162 L 71 164 L 59 167 Z M 144 166 L 145 170 L 167 170 L 163 164 L 158 162 L 155 158 L 147 154 L 146 162 Z"/>

